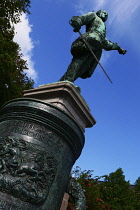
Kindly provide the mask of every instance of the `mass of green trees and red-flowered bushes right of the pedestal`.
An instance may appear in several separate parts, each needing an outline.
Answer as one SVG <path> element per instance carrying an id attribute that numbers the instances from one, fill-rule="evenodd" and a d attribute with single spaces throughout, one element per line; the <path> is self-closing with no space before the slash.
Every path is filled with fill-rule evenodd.
<path id="1" fill-rule="evenodd" d="M 89 210 L 138 210 L 140 209 L 140 178 L 134 188 L 125 180 L 121 168 L 109 175 L 92 178 L 93 171 L 81 171 L 79 167 L 72 172 L 86 196 Z M 100 180 L 103 181 L 100 181 Z"/>

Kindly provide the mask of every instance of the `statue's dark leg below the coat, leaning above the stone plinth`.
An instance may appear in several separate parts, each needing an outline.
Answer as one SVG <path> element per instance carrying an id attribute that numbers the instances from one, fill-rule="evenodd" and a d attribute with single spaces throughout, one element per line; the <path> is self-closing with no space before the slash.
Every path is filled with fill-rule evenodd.
<path id="1" fill-rule="evenodd" d="M 81 76 L 80 68 L 83 65 L 84 58 L 73 58 L 72 62 L 68 66 L 66 73 L 61 77 L 59 81 L 70 81 L 74 82 L 78 77 Z"/>

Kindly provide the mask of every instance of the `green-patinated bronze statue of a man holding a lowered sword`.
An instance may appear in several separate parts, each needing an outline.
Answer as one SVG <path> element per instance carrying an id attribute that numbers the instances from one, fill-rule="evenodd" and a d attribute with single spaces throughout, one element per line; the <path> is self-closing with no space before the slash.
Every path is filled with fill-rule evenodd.
<path id="1" fill-rule="evenodd" d="M 102 49 L 108 51 L 118 50 L 123 55 L 127 52 L 117 43 L 106 39 L 106 26 L 104 22 L 107 18 L 108 13 L 105 10 L 99 10 L 97 13 L 89 12 L 85 15 L 73 16 L 70 20 L 70 25 L 74 28 L 74 32 L 78 32 L 81 26 L 86 25 L 86 33 L 83 34 L 83 37 L 98 60 L 100 60 Z M 72 62 L 68 66 L 67 72 L 59 81 L 68 80 L 74 82 L 78 77 L 82 79 L 91 77 L 98 63 L 82 37 L 79 37 L 72 43 L 71 53 L 73 55 Z"/>

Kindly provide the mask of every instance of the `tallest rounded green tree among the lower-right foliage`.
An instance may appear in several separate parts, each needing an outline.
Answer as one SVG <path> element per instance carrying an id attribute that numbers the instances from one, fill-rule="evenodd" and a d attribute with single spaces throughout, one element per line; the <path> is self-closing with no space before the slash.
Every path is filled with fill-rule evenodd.
<path id="1" fill-rule="evenodd" d="M 135 209 L 136 196 L 130 189 L 129 181 L 125 180 L 121 168 L 109 175 L 102 176 L 101 184 L 103 200 L 110 203 L 113 210 L 133 210 Z"/>

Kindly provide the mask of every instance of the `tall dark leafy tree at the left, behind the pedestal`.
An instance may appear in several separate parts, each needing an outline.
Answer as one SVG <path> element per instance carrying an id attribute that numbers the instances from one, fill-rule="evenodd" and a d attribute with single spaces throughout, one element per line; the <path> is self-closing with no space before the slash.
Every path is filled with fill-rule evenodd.
<path id="1" fill-rule="evenodd" d="M 27 12 L 29 0 L 1 0 L 0 2 L 0 106 L 21 97 L 23 90 L 33 87 L 28 78 L 27 62 L 22 59 L 20 47 L 13 41 L 14 27 L 20 21 L 22 12 Z"/>

